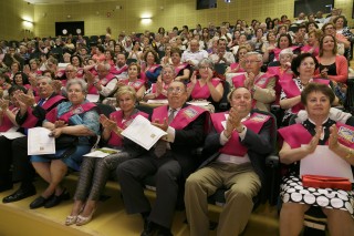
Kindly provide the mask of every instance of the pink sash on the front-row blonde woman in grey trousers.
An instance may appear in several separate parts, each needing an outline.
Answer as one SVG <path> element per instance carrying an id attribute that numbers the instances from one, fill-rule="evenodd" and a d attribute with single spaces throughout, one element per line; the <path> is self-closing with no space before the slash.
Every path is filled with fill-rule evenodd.
<path id="1" fill-rule="evenodd" d="M 144 112 L 137 112 L 136 114 L 132 115 L 129 120 L 126 120 L 123 122 L 123 111 L 116 111 L 111 113 L 110 119 L 115 121 L 117 126 L 121 129 L 126 129 L 131 122 L 137 116 L 143 115 L 144 117 L 148 119 L 148 114 Z M 112 146 L 122 146 L 123 145 L 123 138 L 117 135 L 115 132 L 111 132 L 111 137 L 108 140 L 108 144 Z"/>

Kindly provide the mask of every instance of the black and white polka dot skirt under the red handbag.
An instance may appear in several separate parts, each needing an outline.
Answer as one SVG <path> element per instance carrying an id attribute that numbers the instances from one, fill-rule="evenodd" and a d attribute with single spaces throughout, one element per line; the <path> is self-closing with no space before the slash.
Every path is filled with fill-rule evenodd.
<path id="1" fill-rule="evenodd" d="M 354 192 L 334 188 L 304 187 L 299 177 L 283 177 L 280 185 L 280 197 L 283 203 L 309 204 L 332 209 L 343 209 L 354 218 Z"/>

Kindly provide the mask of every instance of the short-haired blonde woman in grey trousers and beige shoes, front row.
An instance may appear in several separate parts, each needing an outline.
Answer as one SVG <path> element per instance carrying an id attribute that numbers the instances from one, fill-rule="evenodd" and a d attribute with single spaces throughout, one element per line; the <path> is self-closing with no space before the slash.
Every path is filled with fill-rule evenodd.
<path id="1" fill-rule="evenodd" d="M 119 150 L 116 154 L 106 157 L 85 157 L 81 166 L 80 178 L 74 196 L 74 205 L 71 215 L 66 217 L 65 225 L 87 224 L 97 207 L 97 201 L 105 187 L 110 173 L 122 162 L 134 158 L 144 150 L 127 138 L 123 138 L 121 132 L 127 127 L 137 115 L 147 117 L 144 112 L 134 107 L 136 92 L 132 86 L 122 86 L 116 94 L 121 110 L 113 112 L 107 119 L 101 115 L 103 126 L 102 137 L 111 148 Z"/>

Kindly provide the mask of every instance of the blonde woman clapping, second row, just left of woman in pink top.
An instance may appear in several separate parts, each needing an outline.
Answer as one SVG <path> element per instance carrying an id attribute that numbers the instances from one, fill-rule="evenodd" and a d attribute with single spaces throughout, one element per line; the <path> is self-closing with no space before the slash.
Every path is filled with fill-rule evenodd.
<path id="1" fill-rule="evenodd" d="M 176 72 L 173 65 L 167 64 L 163 68 L 162 74 L 158 76 L 157 82 L 152 84 L 152 88 L 144 96 L 144 101 L 148 100 L 166 100 L 167 89 L 176 78 Z"/>

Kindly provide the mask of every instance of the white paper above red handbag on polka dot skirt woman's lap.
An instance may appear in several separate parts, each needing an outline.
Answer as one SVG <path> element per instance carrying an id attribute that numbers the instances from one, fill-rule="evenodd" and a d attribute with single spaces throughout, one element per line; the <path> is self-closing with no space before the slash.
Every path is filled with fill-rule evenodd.
<path id="1" fill-rule="evenodd" d="M 326 145 L 317 145 L 312 154 L 301 160 L 300 176 L 302 175 L 345 177 L 354 182 L 351 165 Z"/>

